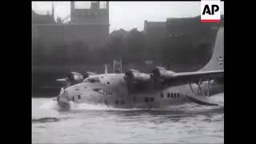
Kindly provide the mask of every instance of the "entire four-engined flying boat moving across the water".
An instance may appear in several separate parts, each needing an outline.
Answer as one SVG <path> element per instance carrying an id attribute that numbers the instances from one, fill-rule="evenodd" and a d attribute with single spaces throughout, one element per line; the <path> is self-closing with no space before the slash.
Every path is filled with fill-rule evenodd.
<path id="1" fill-rule="evenodd" d="M 224 92 L 223 33 L 220 28 L 213 55 L 201 70 L 175 73 L 158 66 L 149 74 L 138 70 L 107 74 L 105 70 L 105 74 L 89 74 L 84 79 L 76 77 L 74 85 L 62 87 L 57 97 L 58 105 L 62 110 L 69 110 L 70 102 L 149 109 L 186 102 L 218 106 L 213 97 Z"/>

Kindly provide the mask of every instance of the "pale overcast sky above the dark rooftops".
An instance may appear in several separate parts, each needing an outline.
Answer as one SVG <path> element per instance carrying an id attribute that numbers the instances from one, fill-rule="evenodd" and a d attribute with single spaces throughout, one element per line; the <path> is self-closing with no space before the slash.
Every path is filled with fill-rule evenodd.
<path id="1" fill-rule="evenodd" d="M 38 14 L 51 14 L 53 2 L 32 2 Z M 77 8 L 86 2 L 76 2 Z M 70 15 L 70 2 L 54 2 L 55 19 Z M 224 14 L 224 2 L 221 2 Z M 166 18 L 185 18 L 200 15 L 200 2 L 110 2 L 110 32 L 113 30 L 143 30 L 144 21 L 166 22 Z"/>

